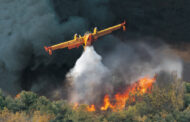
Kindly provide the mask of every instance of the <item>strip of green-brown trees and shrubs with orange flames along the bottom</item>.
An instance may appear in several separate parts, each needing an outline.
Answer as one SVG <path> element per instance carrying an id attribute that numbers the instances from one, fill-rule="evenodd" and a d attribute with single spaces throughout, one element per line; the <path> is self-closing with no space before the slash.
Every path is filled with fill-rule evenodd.
<path id="1" fill-rule="evenodd" d="M 139 79 L 114 97 L 106 94 L 101 106 L 51 101 L 26 91 L 15 98 L 0 92 L 0 121 L 190 121 L 190 83 L 174 77 L 161 87 L 156 79 Z"/>

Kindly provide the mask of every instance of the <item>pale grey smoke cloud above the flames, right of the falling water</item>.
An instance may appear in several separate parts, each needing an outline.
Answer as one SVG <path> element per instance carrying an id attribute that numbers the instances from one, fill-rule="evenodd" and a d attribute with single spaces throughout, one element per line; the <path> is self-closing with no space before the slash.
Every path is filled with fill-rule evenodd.
<path id="1" fill-rule="evenodd" d="M 119 77 L 127 83 L 146 75 L 154 76 L 161 71 L 176 71 L 181 78 L 181 59 L 172 53 L 167 54 L 165 50 L 169 50 L 169 47 L 166 45 L 154 47 L 150 44 L 135 41 L 121 43 L 105 57 L 105 64 L 112 71 L 119 72 Z"/>

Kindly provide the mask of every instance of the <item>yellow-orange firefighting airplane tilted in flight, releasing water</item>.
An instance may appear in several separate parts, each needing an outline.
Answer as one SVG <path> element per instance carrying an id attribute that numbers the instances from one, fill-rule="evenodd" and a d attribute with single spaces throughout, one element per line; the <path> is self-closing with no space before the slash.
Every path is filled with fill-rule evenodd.
<path id="1" fill-rule="evenodd" d="M 74 35 L 74 39 L 73 40 L 69 40 L 66 42 L 62 42 L 60 44 L 56 44 L 56 45 L 52 45 L 50 47 L 45 46 L 45 51 L 49 52 L 50 55 L 52 55 L 52 51 L 53 50 L 57 50 L 57 49 L 63 49 L 63 48 L 68 48 L 68 49 L 72 49 L 72 48 L 78 48 L 79 46 L 83 46 L 84 49 L 86 46 L 90 46 L 92 44 L 92 42 L 94 42 L 95 40 L 97 40 L 99 37 L 107 35 L 112 33 L 112 31 L 118 30 L 120 28 L 123 28 L 123 30 L 126 30 L 125 27 L 126 22 L 124 21 L 121 24 L 109 27 L 107 29 L 104 30 L 100 30 L 97 31 L 97 27 L 94 28 L 94 32 L 93 33 L 88 33 L 85 34 L 84 36 L 77 36 L 77 34 Z"/>

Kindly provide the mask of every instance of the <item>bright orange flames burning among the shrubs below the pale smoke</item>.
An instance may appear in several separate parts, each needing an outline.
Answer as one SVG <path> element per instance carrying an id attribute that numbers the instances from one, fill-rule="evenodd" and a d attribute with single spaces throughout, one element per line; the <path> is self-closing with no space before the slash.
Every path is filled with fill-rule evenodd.
<path id="1" fill-rule="evenodd" d="M 156 81 L 155 78 L 144 77 L 138 80 L 138 82 L 130 85 L 123 93 L 116 93 L 110 100 L 110 96 L 106 94 L 104 96 L 103 105 L 100 110 L 106 111 L 109 108 L 113 111 L 124 109 L 126 102 L 135 102 L 135 96 L 141 96 L 145 93 L 150 93 L 153 83 Z M 87 107 L 88 111 L 96 111 L 95 105 L 92 104 Z"/>

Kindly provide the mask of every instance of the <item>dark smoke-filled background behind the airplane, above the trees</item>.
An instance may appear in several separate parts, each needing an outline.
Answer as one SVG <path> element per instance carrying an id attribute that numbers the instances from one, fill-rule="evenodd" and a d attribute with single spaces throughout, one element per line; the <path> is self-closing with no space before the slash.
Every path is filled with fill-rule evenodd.
<path id="1" fill-rule="evenodd" d="M 82 47 L 55 51 L 53 56 L 43 47 L 123 20 L 127 22 L 126 32 L 119 30 L 94 44 L 103 63 L 121 42 L 127 43 L 125 49 L 132 48 L 134 54 L 123 57 L 137 54 L 143 63 L 151 61 L 146 53 L 150 51 L 137 43 L 146 43 L 156 51 L 164 46 L 163 54 L 178 54 L 182 78 L 188 81 L 189 6 L 189 0 L 0 0 L 0 87 L 13 95 L 20 90 L 47 95 L 60 86 L 66 87 L 65 75 L 80 57 Z"/>

